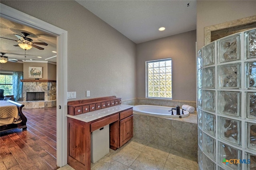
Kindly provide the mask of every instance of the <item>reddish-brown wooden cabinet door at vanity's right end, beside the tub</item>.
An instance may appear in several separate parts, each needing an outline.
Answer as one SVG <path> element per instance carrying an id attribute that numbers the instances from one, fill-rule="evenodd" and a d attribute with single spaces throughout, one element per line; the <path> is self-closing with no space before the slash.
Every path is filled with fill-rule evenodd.
<path id="1" fill-rule="evenodd" d="M 120 147 L 133 136 L 133 115 L 120 121 Z"/>

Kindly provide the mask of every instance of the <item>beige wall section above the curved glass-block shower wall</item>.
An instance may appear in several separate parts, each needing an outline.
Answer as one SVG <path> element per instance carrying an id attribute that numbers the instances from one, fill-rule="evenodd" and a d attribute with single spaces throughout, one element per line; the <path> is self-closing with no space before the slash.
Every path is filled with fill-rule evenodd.
<path id="1" fill-rule="evenodd" d="M 197 0 L 198 49 L 204 46 L 204 27 L 256 15 L 255 0 Z"/>

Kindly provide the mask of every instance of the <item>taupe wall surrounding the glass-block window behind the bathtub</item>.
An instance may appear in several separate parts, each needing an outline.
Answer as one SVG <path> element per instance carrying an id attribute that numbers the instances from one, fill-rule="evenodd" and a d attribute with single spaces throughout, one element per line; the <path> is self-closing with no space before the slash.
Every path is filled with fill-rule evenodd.
<path id="1" fill-rule="evenodd" d="M 137 44 L 137 96 L 146 97 L 145 61 L 172 58 L 172 99 L 196 101 L 196 30 Z"/>

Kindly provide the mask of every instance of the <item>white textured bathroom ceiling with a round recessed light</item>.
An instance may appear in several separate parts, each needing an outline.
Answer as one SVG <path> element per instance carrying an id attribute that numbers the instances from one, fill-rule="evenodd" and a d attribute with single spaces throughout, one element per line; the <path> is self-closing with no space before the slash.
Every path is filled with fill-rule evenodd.
<path id="1" fill-rule="evenodd" d="M 135 43 L 196 30 L 196 0 L 76 0 Z M 188 6 L 189 4 L 189 6 Z M 158 28 L 165 27 L 160 32 Z"/>

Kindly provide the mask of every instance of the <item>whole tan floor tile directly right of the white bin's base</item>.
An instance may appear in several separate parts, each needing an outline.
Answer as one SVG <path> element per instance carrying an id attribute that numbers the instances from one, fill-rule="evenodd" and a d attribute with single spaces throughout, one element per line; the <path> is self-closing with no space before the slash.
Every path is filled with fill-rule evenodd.
<path id="1" fill-rule="evenodd" d="M 126 146 L 119 152 L 112 153 L 109 157 L 126 166 L 130 166 L 140 153 L 140 151 Z"/>

